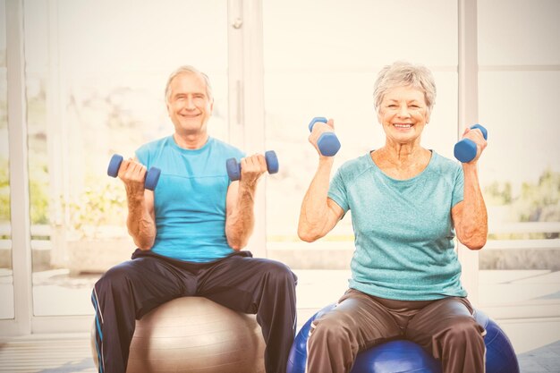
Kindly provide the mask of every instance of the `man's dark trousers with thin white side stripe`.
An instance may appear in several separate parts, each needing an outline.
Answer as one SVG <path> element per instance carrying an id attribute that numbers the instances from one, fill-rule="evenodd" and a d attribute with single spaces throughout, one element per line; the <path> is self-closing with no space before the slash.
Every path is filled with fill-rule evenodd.
<path id="1" fill-rule="evenodd" d="M 136 319 L 182 296 L 203 296 L 227 308 L 257 314 L 267 373 L 286 371 L 296 327 L 297 277 L 284 264 L 240 251 L 211 263 L 165 258 L 136 250 L 109 269 L 91 299 L 98 323 L 99 372 L 124 373 Z"/>

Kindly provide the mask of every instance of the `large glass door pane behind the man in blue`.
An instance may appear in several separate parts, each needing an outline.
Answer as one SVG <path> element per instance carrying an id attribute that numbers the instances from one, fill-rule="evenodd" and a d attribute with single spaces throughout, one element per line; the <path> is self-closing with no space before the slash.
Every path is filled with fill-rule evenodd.
<path id="1" fill-rule="evenodd" d="M 92 284 L 134 250 L 108 161 L 173 132 L 174 69 L 209 75 L 209 131 L 227 140 L 227 1 L 44 0 L 24 15 L 33 313 L 88 315 Z"/>

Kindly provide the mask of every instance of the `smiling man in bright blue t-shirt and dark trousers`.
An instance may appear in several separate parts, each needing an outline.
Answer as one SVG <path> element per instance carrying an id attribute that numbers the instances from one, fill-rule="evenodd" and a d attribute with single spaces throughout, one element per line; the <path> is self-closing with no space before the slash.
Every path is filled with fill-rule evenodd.
<path id="1" fill-rule="evenodd" d="M 208 76 L 191 66 L 171 74 L 165 102 L 173 135 L 141 146 L 118 176 L 128 200 L 127 226 L 138 249 L 109 269 L 92 292 L 99 371 L 124 373 L 135 319 L 165 301 L 204 296 L 257 314 L 267 373 L 284 373 L 295 335 L 296 276 L 284 264 L 242 250 L 253 231 L 253 201 L 265 157 L 208 135 L 214 99 Z M 241 180 L 225 162 L 241 158 Z M 161 176 L 144 189 L 149 167 Z"/>

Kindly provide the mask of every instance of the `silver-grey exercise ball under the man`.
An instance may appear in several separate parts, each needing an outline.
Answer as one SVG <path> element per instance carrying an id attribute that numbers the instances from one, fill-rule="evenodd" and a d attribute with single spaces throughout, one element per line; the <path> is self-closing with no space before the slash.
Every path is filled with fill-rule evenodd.
<path id="1" fill-rule="evenodd" d="M 95 321 L 91 329 L 96 366 Z M 264 373 L 254 315 L 202 297 L 168 301 L 136 321 L 127 373 Z"/>

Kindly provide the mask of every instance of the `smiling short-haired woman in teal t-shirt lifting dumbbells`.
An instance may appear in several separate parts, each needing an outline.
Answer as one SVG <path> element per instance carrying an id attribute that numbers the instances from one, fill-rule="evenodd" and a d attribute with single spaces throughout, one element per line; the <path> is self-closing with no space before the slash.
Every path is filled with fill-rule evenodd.
<path id="1" fill-rule="evenodd" d="M 358 352 L 395 338 L 420 344 L 444 373 L 484 371 L 485 330 L 460 282 L 454 236 L 471 250 L 486 243 L 488 217 L 477 163 L 487 144 L 466 130 L 477 155 L 459 164 L 422 148 L 436 98 L 424 66 L 395 63 L 379 72 L 374 102 L 385 145 L 342 165 L 320 152 L 302 205 L 298 234 L 313 242 L 352 210 L 355 248 L 349 289 L 316 319 L 308 340 L 310 373 L 349 372 Z M 316 123 L 310 134 L 334 131 Z"/>

